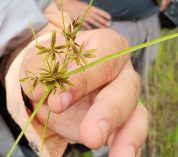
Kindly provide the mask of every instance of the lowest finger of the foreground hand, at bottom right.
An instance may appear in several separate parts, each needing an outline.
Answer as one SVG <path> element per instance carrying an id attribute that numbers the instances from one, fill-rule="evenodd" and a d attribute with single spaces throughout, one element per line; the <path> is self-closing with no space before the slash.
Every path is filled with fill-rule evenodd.
<path id="1" fill-rule="evenodd" d="M 140 154 L 148 130 L 148 113 L 143 105 L 137 105 L 128 121 L 118 130 L 110 145 L 109 157 L 136 157 Z"/>

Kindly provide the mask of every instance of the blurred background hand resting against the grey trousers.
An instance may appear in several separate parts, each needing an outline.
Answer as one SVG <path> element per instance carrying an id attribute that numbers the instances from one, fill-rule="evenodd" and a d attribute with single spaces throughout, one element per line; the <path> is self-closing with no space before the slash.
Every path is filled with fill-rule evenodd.
<path id="1" fill-rule="evenodd" d="M 82 17 L 87 6 L 87 3 L 80 2 L 78 0 L 70 0 L 70 2 L 66 1 L 66 3 L 64 1 L 64 11 L 69 14 L 71 19 Z M 109 13 L 95 6 L 91 6 L 83 23 L 83 27 L 87 30 L 92 29 L 92 27 L 107 28 L 110 26 L 110 21 L 111 16 Z"/>

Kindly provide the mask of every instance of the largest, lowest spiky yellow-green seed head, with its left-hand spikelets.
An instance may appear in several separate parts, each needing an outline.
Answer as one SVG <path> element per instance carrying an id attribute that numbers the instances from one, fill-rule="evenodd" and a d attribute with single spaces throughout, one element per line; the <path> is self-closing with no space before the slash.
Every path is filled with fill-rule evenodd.
<path id="1" fill-rule="evenodd" d="M 68 69 L 64 66 L 60 66 L 59 62 L 55 62 L 52 65 L 49 65 L 47 62 L 47 68 L 40 68 L 38 76 L 29 73 L 27 77 L 21 79 L 21 82 L 27 80 L 32 81 L 32 86 L 26 91 L 26 93 L 31 93 L 37 85 L 40 83 L 44 89 L 51 89 L 54 93 L 57 88 L 60 88 L 62 91 L 67 90 L 67 85 L 73 86 L 74 84 L 69 80 L 69 76 L 66 75 Z"/>

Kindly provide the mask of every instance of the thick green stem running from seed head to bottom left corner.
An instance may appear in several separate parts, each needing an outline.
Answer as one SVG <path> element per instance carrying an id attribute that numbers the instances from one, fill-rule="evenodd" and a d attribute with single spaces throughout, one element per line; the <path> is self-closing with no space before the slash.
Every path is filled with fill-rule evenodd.
<path id="1" fill-rule="evenodd" d="M 28 128 L 29 124 L 32 122 L 33 118 L 35 117 L 36 113 L 39 111 L 41 105 L 43 104 L 43 102 L 45 101 L 45 99 L 47 98 L 48 94 L 51 92 L 51 89 L 49 89 L 48 91 L 45 92 L 45 94 L 43 95 L 43 97 L 41 98 L 41 100 L 39 101 L 39 103 L 36 105 L 35 110 L 33 111 L 33 113 L 31 114 L 30 118 L 28 119 L 28 121 L 25 123 L 25 126 L 23 127 L 21 133 L 19 134 L 19 136 L 17 137 L 17 139 L 15 140 L 13 146 L 11 147 L 9 153 L 7 154 L 7 157 L 10 157 L 15 149 L 15 147 L 17 146 L 17 144 L 19 143 L 20 139 L 22 138 L 23 134 L 25 133 L 26 129 Z"/>

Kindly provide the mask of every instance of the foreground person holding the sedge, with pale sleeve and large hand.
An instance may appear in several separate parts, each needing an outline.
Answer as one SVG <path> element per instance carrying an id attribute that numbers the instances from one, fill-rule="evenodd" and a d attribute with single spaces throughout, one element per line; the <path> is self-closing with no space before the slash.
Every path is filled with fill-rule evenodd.
<path id="1" fill-rule="evenodd" d="M 22 89 L 25 91 L 26 87 L 19 82 L 20 74 L 24 75 L 26 70 L 33 72 L 40 64 L 34 50 L 29 21 L 38 32 L 40 43 L 48 44 L 53 29 L 56 29 L 59 42 L 62 42 L 64 40 L 61 30 L 63 26 L 59 15 L 60 12 L 55 4 L 50 1 L 14 0 L 12 2 L 7 0 L 1 2 L 0 76 L 6 88 L 7 108 L 10 115 L 4 110 L 6 109 L 4 101 L 1 101 L 1 109 L 3 117 L 8 117 L 5 122 L 8 122 L 13 133 L 17 131 L 17 127 L 12 126 L 13 120 L 22 128 L 31 113 L 25 104 L 30 103 L 34 107 L 43 92 L 39 89 L 26 97 L 22 91 Z M 65 21 L 69 22 L 70 19 L 65 16 Z M 80 32 L 77 42 L 86 39 L 88 48 L 97 47 L 98 57 L 127 48 L 124 37 L 107 29 Z M 100 75 L 97 75 L 98 73 Z M 79 89 L 72 87 L 73 89 L 69 88 L 69 92 L 76 92 L 57 92 L 55 95 L 52 93 L 49 95 L 47 104 L 42 106 L 26 131 L 27 145 L 29 144 L 39 155 L 41 146 L 39 135 L 42 135 L 44 121 L 47 118 L 46 111 L 50 109 L 52 116 L 43 157 L 62 156 L 70 141 L 85 144 L 90 148 L 98 148 L 106 143 L 110 145 L 111 157 L 118 154 L 122 157 L 139 156 L 140 147 L 147 133 L 148 116 L 145 107 L 137 105 L 140 82 L 129 56 L 125 55 L 96 66 L 86 70 L 83 75 L 76 75 L 71 79 Z M 5 99 L 4 94 L 2 92 L 2 100 Z M 1 120 L 0 125 L 8 130 L 3 122 L 4 120 Z M 7 131 L 0 134 L 5 132 Z M 13 141 L 10 142 L 11 146 Z M 9 145 L 6 146 L 9 147 Z M 0 153 L 6 153 L 6 156 L 8 150 Z M 23 149 L 23 153 L 26 157 L 35 156 L 35 154 L 27 153 L 26 149 Z M 14 157 L 17 156 L 23 155 L 14 155 Z"/>

